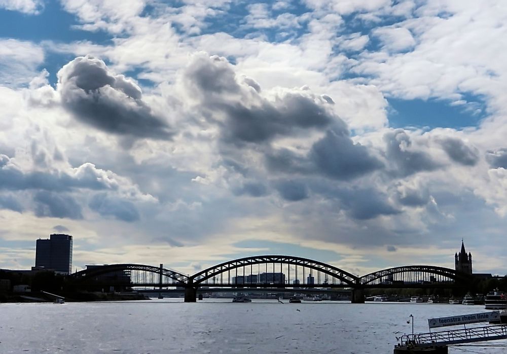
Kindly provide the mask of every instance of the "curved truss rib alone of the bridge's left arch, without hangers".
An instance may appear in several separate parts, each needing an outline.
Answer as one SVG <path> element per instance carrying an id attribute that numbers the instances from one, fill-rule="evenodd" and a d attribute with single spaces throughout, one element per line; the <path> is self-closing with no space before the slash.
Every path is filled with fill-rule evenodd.
<path id="1" fill-rule="evenodd" d="M 100 275 L 122 272 L 122 271 L 141 271 L 154 273 L 156 275 L 162 274 L 163 277 L 167 277 L 173 280 L 176 285 L 184 285 L 188 282 L 188 276 L 177 271 L 160 268 L 150 265 L 144 264 L 130 264 L 130 263 L 122 263 L 122 264 L 108 264 L 103 266 L 93 267 L 91 269 L 84 269 L 79 272 L 70 274 L 69 277 L 71 280 L 76 282 L 86 281 L 93 277 L 97 277 Z"/>

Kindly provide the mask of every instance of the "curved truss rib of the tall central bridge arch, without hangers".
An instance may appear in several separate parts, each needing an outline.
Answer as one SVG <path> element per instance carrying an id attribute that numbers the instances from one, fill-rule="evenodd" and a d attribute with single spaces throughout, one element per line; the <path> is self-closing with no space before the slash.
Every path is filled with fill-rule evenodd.
<path id="1" fill-rule="evenodd" d="M 357 276 L 350 274 L 344 271 L 343 269 L 337 268 L 330 264 L 314 261 L 308 258 L 268 255 L 268 256 L 251 256 L 245 258 L 238 258 L 232 261 L 220 263 L 215 266 L 204 269 L 198 273 L 195 273 L 190 277 L 189 281 L 192 282 L 192 284 L 198 286 L 200 284 L 203 284 L 207 279 L 210 279 L 221 273 L 256 264 L 287 264 L 313 269 L 315 271 L 322 272 L 331 277 L 337 278 L 350 286 L 356 285 L 359 280 Z"/>

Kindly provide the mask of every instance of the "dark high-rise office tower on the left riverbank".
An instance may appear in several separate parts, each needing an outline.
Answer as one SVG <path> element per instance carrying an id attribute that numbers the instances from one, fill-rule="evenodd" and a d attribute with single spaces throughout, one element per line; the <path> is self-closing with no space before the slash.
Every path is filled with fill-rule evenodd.
<path id="1" fill-rule="evenodd" d="M 51 234 L 49 239 L 38 239 L 35 251 L 35 267 L 72 271 L 72 236 Z"/>

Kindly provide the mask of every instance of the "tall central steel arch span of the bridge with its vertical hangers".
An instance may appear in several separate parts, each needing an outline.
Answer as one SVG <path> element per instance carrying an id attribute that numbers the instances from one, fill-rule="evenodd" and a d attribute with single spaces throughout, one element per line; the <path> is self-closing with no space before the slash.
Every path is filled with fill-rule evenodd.
<path id="1" fill-rule="evenodd" d="M 266 265 L 265 273 L 268 273 L 267 266 L 272 265 L 272 268 L 270 268 L 269 270 L 273 274 L 275 273 L 276 270 L 278 270 L 278 266 L 280 269 L 279 273 L 284 273 L 283 272 L 284 269 L 283 269 L 282 265 L 287 265 L 285 270 L 288 273 L 287 274 L 288 281 L 291 280 L 291 273 L 290 273 L 291 267 L 290 266 L 295 267 L 295 272 L 296 272 L 295 279 L 298 279 L 298 280 L 299 280 L 298 267 L 300 267 L 302 270 L 302 273 L 300 273 L 300 274 L 303 275 L 303 279 L 304 279 L 304 274 L 305 274 L 304 271 L 306 269 L 308 269 L 308 270 L 316 271 L 317 276 L 320 273 L 322 273 L 324 275 L 324 277 L 330 276 L 333 279 L 333 282 L 334 282 L 334 279 L 337 279 L 340 281 L 341 284 L 345 284 L 348 286 L 355 286 L 359 280 L 359 278 L 357 276 L 350 274 L 350 273 L 346 272 L 345 270 L 337 268 L 337 267 L 330 265 L 330 264 L 322 263 L 319 261 L 314 261 L 314 260 L 311 260 L 308 258 L 295 257 L 295 256 L 280 256 L 280 255 L 252 256 L 252 257 L 238 258 L 238 259 L 224 262 L 224 263 L 212 266 L 210 268 L 207 268 L 205 270 L 202 270 L 202 271 L 190 276 L 189 279 L 191 280 L 193 285 L 198 286 L 201 284 L 208 284 L 207 281 L 209 279 L 214 278 L 218 275 L 223 275 L 226 272 L 228 274 L 227 278 L 228 278 L 228 280 L 230 280 L 230 278 L 231 278 L 230 272 L 236 271 L 235 272 L 236 282 L 234 284 L 237 285 L 238 284 L 238 281 L 237 281 L 238 275 L 241 276 L 241 274 L 238 274 L 238 272 L 237 272 L 237 270 L 239 268 L 243 269 L 243 277 L 244 277 L 245 276 L 245 273 L 244 273 L 245 269 L 248 269 L 248 267 L 250 267 L 250 276 L 251 276 L 253 274 L 252 273 L 252 270 L 253 270 L 252 266 L 258 265 L 257 270 L 258 270 L 258 272 L 260 272 L 261 269 L 259 266 L 261 264 Z M 262 270 L 264 270 L 264 269 L 262 269 Z M 294 275 L 294 273 L 293 273 L 293 275 Z M 258 282 L 259 282 L 259 280 L 256 283 L 258 283 Z M 253 281 L 251 281 L 251 278 L 250 278 L 250 284 L 252 284 L 252 283 L 253 283 Z M 221 281 L 221 284 L 224 284 L 223 280 Z M 241 284 L 247 285 L 248 281 L 245 281 L 245 279 L 243 278 Z M 320 283 L 320 284 L 322 284 L 322 283 Z"/>

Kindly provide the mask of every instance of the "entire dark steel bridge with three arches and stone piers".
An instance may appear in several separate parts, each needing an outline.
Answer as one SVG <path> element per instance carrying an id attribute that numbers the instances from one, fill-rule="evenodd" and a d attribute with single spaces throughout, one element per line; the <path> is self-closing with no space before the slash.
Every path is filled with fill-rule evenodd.
<path id="1" fill-rule="evenodd" d="M 257 291 L 349 288 L 352 289 L 352 302 L 360 303 L 364 302 L 364 289 L 368 288 L 455 288 L 472 279 L 473 275 L 429 265 L 387 268 L 359 277 L 331 264 L 282 255 L 238 258 L 193 275 L 163 268 L 162 264 L 159 267 L 112 264 L 69 275 L 69 283 L 73 288 L 154 287 L 160 291 L 163 288 L 179 288 L 180 291 L 185 291 L 186 302 L 196 300 L 199 288 L 202 290 L 211 287 L 214 291 L 225 288 Z"/>

